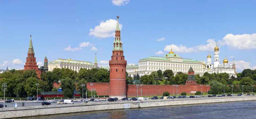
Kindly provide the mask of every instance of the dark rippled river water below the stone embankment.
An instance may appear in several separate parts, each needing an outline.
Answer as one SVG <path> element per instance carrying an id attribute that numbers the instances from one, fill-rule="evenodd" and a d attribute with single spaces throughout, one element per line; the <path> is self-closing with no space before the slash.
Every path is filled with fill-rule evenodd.
<path id="1" fill-rule="evenodd" d="M 255 119 L 256 101 L 223 102 L 211 104 L 161 106 L 151 108 L 103 110 L 22 119 Z"/>

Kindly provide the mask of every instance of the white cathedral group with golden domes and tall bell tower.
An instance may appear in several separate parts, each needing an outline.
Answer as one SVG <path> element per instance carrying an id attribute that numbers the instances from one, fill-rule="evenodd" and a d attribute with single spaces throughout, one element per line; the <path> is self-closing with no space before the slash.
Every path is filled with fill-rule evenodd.
<path id="1" fill-rule="evenodd" d="M 229 76 L 234 76 L 237 77 L 237 70 L 235 69 L 235 59 L 233 61 L 233 64 L 229 64 L 229 61 L 227 60 L 226 56 L 225 59 L 223 60 L 223 65 L 221 65 L 219 63 L 219 47 L 217 46 L 216 43 L 216 47 L 214 48 L 214 61 L 212 64 L 211 61 L 211 55 L 209 53 L 209 55 L 207 56 L 207 62 L 204 65 L 204 72 L 208 72 L 208 73 L 228 73 Z"/>

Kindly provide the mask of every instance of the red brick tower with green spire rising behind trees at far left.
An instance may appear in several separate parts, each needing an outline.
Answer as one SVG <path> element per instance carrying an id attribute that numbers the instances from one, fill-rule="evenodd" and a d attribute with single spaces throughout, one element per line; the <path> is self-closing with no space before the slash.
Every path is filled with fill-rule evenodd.
<path id="1" fill-rule="evenodd" d="M 24 70 L 35 70 L 37 73 L 37 76 L 40 78 L 40 74 L 42 73 L 42 71 L 40 69 L 38 69 L 38 65 L 37 62 L 35 61 L 35 52 L 33 49 L 33 44 L 32 44 L 32 40 L 31 40 L 31 35 L 30 35 L 30 42 L 29 42 L 29 51 L 27 52 L 27 58 L 26 58 L 26 63 L 24 65 Z"/>

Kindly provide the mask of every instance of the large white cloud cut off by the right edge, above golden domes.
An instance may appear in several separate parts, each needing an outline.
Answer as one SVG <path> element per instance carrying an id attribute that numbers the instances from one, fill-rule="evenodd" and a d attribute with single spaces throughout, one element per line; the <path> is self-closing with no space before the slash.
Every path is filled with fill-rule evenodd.
<path id="1" fill-rule="evenodd" d="M 223 40 L 220 40 L 221 45 L 227 45 L 229 47 L 237 49 L 255 49 L 256 48 L 256 33 L 254 34 L 242 34 L 242 35 L 233 35 L 227 34 L 223 37 Z"/>

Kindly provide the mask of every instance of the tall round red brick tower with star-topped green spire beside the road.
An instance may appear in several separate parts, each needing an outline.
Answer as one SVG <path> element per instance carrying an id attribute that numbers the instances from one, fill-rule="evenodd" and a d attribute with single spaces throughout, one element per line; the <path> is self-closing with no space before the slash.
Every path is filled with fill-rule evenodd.
<path id="1" fill-rule="evenodd" d="M 117 28 L 115 30 L 115 41 L 113 43 L 113 51 L 110 67 L 110 97 L 123 98 L 126 97 L 126 63 L 123 56 L 123 43 L 120 38 L 119 17 L 117 16 Z"/>

